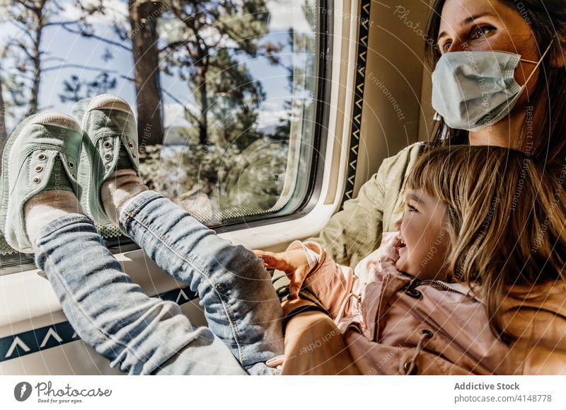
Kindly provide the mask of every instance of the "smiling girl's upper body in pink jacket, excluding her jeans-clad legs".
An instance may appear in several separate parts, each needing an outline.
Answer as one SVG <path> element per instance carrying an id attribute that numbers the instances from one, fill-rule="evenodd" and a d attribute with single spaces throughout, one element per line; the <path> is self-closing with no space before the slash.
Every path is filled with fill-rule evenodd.
<path id="1" fill-rule="evenodd" d="M 566 374 L 565 180 L 505 148 L 433 149 L 354 271 L 312 241 L 255 254 L 316 295 L 364 374 Z"/>

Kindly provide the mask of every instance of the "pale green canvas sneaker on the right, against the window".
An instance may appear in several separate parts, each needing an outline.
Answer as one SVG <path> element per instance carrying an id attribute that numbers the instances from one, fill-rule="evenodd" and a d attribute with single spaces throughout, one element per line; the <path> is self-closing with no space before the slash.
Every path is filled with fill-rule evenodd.
<path id="1" fill-rule="evenodd" d="M 122 98 L 101 94 L 76 103 L 72 115 L 84 132 L 79 201 L 97 224 L 110 224 L 100 200 L 102 184 L 117 169 L 134 169 L 139 175 L 134 113 Z"/>

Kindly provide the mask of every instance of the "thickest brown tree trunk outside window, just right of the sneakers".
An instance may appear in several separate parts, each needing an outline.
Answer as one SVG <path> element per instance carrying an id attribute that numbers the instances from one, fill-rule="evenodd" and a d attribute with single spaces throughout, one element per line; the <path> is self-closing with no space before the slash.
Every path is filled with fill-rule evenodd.
<path id="1" fill-rule="evenodd" d="M 140 149 L 145 145 L 163 144 L 156 21 L 165 9 L 166 4 L 160 1 L 129 0 Z"/>

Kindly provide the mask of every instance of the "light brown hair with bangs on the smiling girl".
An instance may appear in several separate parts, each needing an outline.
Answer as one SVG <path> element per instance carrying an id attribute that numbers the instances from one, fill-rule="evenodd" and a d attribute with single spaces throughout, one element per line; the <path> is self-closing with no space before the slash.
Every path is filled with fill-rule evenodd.
<path id="1" fill-rule="evenodd" d="M 447 205 L 448 280 L 480 285 L 490 327 L 509 342 L 499 307 L 512 289 L 564 278 L 566 165 L 549 168 L 513 149 L 454 146 L 429 149 L 405 187 Z M 533 296 L 533 292 L 531 292 Z"/>

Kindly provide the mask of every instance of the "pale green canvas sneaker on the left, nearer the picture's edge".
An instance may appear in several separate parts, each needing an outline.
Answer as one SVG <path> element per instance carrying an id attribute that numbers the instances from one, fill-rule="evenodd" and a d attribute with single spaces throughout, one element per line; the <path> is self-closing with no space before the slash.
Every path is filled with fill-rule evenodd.
<path id="1" fill-rule="evenodd" d="M 24 205 L 45 190 L 79 193 L 83 132 L 70 115 L 41 113 L 22 121 L 2 154 L 0 229 L 8 245 L 33 253 L 25 231 Z"/>

